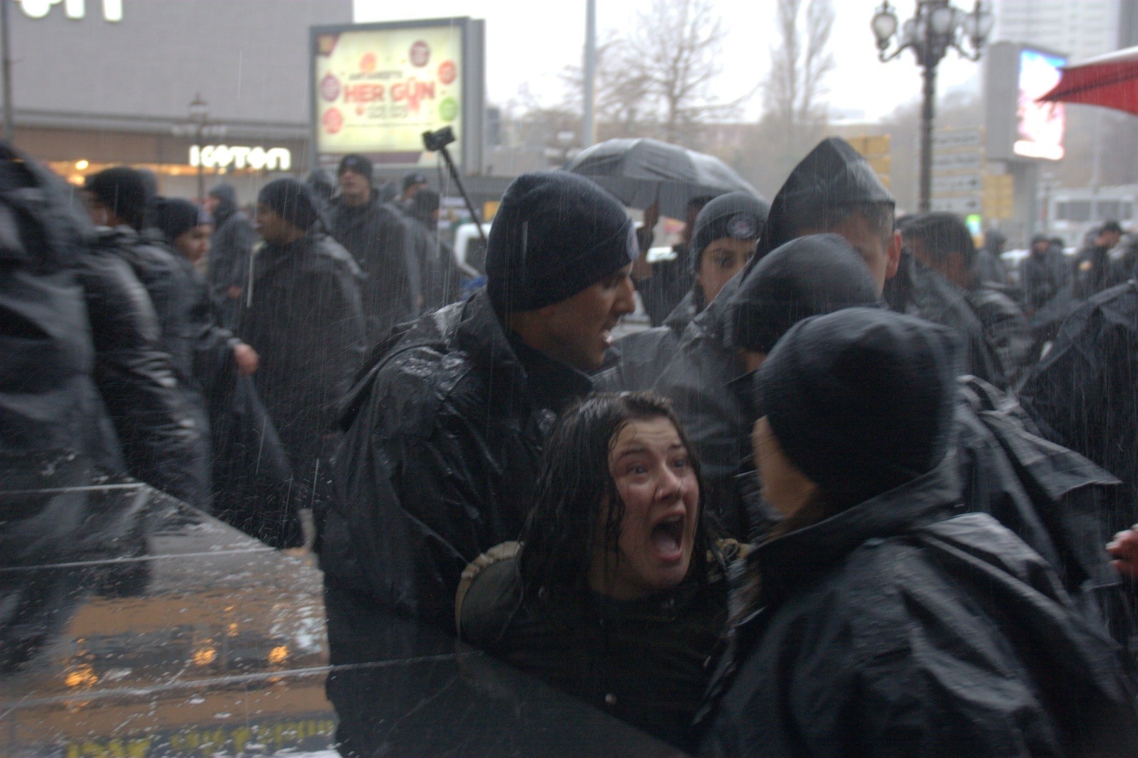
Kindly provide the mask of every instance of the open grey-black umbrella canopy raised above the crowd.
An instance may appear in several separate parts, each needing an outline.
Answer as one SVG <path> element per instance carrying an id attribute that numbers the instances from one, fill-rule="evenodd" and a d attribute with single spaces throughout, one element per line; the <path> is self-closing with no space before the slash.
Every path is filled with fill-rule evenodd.
<path id="1" fill-rule="evenodd" d="M 605 140 L 578 153 L 564 166 L 617 196 L 630 208 L 659 200 L 660 213 L 683 219 L 687 201 L 701 195 L 741 190 L 759 193 L 719 158 L 659 140 Z"/>

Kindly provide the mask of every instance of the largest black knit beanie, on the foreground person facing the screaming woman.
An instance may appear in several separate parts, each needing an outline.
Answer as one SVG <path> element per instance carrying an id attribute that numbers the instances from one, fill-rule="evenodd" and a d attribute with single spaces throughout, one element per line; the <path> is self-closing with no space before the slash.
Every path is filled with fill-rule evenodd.
<path id="1" fill-rule="evenodd" d="M 760 415 L 802 473 L 853 505 L 943 459 L 958 353 L 949 329 L 891 311 L 807 319 L 756 373 Z"/>

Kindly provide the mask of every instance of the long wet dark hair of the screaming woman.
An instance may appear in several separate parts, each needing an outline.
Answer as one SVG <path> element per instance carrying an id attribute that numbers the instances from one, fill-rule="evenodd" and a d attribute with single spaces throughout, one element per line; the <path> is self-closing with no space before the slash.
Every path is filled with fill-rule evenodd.
<path id="1" fill-rule="evenodd" d="M 609 454 L 625 426 L 653 419 L 667 419 L 676 428 L 702 501 L 699 459 L 667 399 L 652 392 L 589 395 L 561 414 L 546 442 L 534 509 L 521 534 L 525 550 L 518 570 L 523 592 L 584 590 L 593 551 L 617 550 L 625 504 Z M 604 528 L 597 529 L 602 518 Z M 712 541 L 706 524 L 701 502 L 690 576 L 707 575 Z"/>

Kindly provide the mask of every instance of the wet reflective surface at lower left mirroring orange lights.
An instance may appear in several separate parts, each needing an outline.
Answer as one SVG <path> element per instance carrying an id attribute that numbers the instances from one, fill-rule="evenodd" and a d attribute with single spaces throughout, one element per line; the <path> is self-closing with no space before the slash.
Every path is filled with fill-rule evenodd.
<path id="1" fill-rule="evenodd" d="M 40 468 L 0 478 L 0 756 L 676 755 L 405 619 L 330 666 L 311 554 Z"/>

